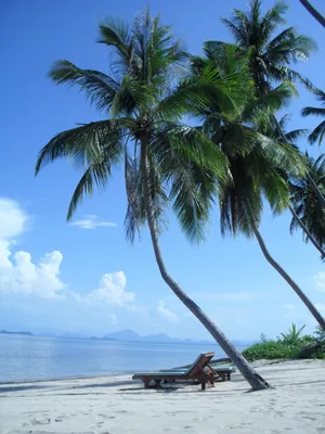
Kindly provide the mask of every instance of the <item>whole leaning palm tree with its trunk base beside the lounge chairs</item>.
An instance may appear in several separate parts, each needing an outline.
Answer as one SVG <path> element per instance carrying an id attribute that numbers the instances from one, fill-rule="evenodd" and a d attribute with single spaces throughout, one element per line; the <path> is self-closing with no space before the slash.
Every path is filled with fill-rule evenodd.
<path id="1" fill-rule="evenodd" d="M 206 71 L 196 82 L 176 88 L 187 55 L 169 26 L 152 18 L 148 10 L 132 26 L 121 22 L 100 25 L 100 42 L 112 50 L 113 77 L 60 61 L 50 72 L 57 84 L 77 85 L 105 114 L 105 119 L 56 135 L 40 151 L 36 174 L 65 157 L 83 175 L 73 194 L 67 218 L 94 186 L 105 188 L 112 167 L 125 163 L 129 240 L 147 221 L 160 275 L 178 298 L 211 333 L 253 390 L 268 383 L 191 299 L 166 269 L 159 246 L 161 217 L 171 203 L 190 240 L 204 234 L 216 184 L 211 174 L 226 177 L 226 159 L 199 128 L 182 123 L 187 107 L 199 107 L 209 97 L 222 107 L 243 97 L 243 77 L 218 77 Z M 182 69 L 181 69 L 182 71 Z M 176 88 L 176 89 L 174 89 Z"/>

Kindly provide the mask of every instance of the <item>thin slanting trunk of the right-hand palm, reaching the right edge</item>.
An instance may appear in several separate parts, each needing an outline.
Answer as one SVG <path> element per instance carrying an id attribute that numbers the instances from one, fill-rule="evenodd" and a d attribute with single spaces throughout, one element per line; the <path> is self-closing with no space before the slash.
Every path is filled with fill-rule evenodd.
<path id="1" fill-rule="evenodd" d="M 270 253 L 265 246 L 265 243 L 256 226 L 253 226 L 253 233 L 259 242 L 261 251 L 263 252 L 263 255 L 265 256 L 265 259 L 268 260 L 268 263 L 271 264 L 272 267 L 275 268 L 275 270 L 292 288 L 292 290 L 298 295 L 298 297 L 301 299 L 301 302 L 304 303 L 304 305 L 309 308 L 310 312 L 313 315 L 313 317 L 318 322 L 321 328 L 323 330 L 325 330 L 325 319 L 322 317 L 322 315 L 318 312 L 318 310 L 315 308 L 315 306 L 312 304 L 312 302 L 308 298 L 308 296 L 297 285 L 297 283 L 290 278 L 290 276 L 270 255 Z"/>

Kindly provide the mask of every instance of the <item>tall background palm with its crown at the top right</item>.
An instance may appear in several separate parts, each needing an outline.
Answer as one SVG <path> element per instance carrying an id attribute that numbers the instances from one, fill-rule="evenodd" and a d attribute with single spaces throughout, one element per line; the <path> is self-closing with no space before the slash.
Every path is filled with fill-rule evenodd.
<path id="1" fill-rule="evenodd" d="M 315 42 L 303 35 L 297 34 L 294 27 L 288 27 L 274 36 L 275 30 L 285 25 L 284 14 L 288 5 L 278 1 L 264 15 L 261 11 L 261 0 L 252 0 L 247 13 L 234 10 L 231 20 L 222 18 L 235 39 L 235 43 L 250 53 L 250 74 L 259 93 L 272 89 L 274 84 L 282 81 L 300 81 L 309 89 L 310 80 L 291 68 L 292 63 L 307 61 L 316 49 Z M 222 42 L 210 42 L 211 47 Z M 278 130 L 283 140 L 285 136 L 276 120 L 274 129 Z M 307 175 L 309 177 L 309 175 Z M 310 182 L 325 207 L 325 197 L 310 178 Z"/>

